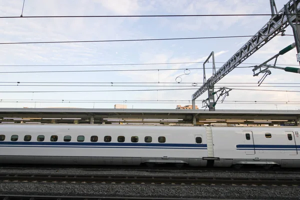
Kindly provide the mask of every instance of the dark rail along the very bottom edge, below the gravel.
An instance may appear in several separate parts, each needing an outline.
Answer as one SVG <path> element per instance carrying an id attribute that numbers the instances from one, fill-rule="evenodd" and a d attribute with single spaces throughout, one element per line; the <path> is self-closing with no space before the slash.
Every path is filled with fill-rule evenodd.
<path id="1" fill-rule="evenodd" d="M 37 196 L 37 195 L 1 195 L 3 200 L 218 200 L 207 198 L 166 198 L 166 197 L 99 197 L 99 196 Z M 227 199 L 230 200 L 230 199 Z M 251 199 L 248 199 L 251 200 Z"/>

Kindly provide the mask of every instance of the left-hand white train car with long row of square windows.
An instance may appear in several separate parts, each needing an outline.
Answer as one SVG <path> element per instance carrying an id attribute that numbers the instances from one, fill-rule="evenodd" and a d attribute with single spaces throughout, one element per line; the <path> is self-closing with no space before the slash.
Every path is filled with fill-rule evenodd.
<path id="1" fill-rule="evenodd" d="M 204 127 L 0 124 L 0 163 L 205 166 Z"/>

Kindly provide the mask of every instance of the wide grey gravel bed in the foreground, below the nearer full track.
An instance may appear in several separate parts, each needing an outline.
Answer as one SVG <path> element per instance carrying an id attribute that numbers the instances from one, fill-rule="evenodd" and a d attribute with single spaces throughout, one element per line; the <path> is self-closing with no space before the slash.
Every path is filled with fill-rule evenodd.
<path id="1" fill-rule="evenodd" d="M 0 182 L 1 194 L 299 199 L 298 186 Z"/>

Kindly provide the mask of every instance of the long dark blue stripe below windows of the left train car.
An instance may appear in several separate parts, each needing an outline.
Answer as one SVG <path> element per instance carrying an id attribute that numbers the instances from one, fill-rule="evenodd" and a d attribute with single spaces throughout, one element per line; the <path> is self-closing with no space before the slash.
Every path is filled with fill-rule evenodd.
<path id="1" fill-rule="evenodd" d="M 121 143 L 121 142 L 36 142 L 36 141 L 0 141 L 0 145 L 36 145 L 36 146 L 90 146 L 90 147 L 109 147 L 109 146 L 137 146 L 137 147 L 207 147 L 207 144 L 187 144 L 187 143 Z"/>

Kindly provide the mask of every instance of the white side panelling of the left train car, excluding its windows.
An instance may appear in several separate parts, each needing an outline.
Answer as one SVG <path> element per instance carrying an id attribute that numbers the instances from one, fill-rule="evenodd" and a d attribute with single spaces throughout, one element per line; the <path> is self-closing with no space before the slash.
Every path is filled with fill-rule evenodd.
<path id="1" fill-rule="evenodd" d="M 105 157 L 143 158 L 143 162 L 176 162 L 178 159 L 177 162 L 184 162 L 181 158 L 207 156 L 204 127 L 2 124 L 0 129 L 0 134 L 5 135 L 4 141 L 0 141 L 0 156 L 93 157 L 100 159 L 99 163 L 105 162 L 102 160 Z M 18 135 L 18 140 L 11 141 L 11 135 Z M 25 135 L 31 135 L 31 140 L 24 141 Z M 44 135 L 44 141 L 37 141 L 38 135 Z M 57 135 L 57 141 L 50 141 L 51 135 Z M 63 141 L 65 135 L 70 135 L 71 140 Z M 84 135 L 83 142 L 77 141 L 78 135 Z M 90 141 L 92 135 L 98 136 L 96 142 Z M 105 135 L 111 136 L 110 142 L 104 142 Z M 201 143 L 195 143 L 195 135 L 201 136 Z M 124 136 L 125 141 L 118 142 L 118 136 Z M 138 142 L 131 142 L 131 136 L 138 136 Z M 145 142 L 145 136 L 151 136 L 152 141 Z M 165 137 L 166 141 L 158 142 L 159 136 Z"/>

